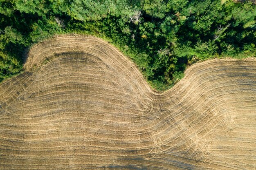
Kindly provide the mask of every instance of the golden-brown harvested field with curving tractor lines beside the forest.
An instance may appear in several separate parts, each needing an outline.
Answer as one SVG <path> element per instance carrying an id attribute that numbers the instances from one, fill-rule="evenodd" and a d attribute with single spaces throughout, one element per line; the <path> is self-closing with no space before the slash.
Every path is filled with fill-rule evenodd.
<path id="1" fill-rule="evenodd" d="M 0 84 L 0 169 L 255 170 L 256 59 L 188 68 L 164 93 L 94 37 L 36 44 Z"/>

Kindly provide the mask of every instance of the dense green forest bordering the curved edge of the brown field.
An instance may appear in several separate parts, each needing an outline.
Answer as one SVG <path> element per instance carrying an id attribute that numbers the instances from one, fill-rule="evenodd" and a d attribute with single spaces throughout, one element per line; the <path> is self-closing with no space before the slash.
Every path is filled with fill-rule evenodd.
<path id="1" fill-rule="evenodd" d="M 256 7 L 232 0 L 0 0 L 0 81 L 22 71 L 32 44 L 59 33 L 108 40 L 162 91 L 197 61 L 255 57 Z"/>

